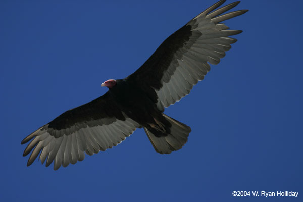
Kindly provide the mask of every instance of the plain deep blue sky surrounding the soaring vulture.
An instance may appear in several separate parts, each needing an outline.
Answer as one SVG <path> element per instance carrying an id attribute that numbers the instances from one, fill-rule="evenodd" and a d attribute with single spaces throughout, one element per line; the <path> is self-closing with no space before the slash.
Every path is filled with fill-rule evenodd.
<path id="1" fill-rule="evenodd" d="M 302 175 L 302 2 L 242 1 L 226 21 L 243 33 L 166 114 L 192 129 L 156 153 L 142 129 L 106 152 L 53 170 L 26 167 L 21 140 L 104 94 L 166 37 L 216 0 L 1 1 L 1 201 L 299 201 Z M 232 1 L 227 1 L 227 4 Z M 234 197 L 232 191 L 296 191 Z"/>

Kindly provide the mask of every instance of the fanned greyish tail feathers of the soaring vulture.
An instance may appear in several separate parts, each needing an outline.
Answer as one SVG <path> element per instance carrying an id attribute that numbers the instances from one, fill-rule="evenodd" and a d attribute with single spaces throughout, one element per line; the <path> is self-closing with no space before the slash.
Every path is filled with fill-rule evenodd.
<path id="1" fill-rule="evenodd" d="M 171 123 L 170 133 L 167 136 L 157 137 L 146 127 L 144 130 L 155 150 L 161 154 L 170 154 L 172 151 L 179 150 L 187 142 L 187 137 L 191 131 L 190 127 L 165 115 L 164 118 Z"/>

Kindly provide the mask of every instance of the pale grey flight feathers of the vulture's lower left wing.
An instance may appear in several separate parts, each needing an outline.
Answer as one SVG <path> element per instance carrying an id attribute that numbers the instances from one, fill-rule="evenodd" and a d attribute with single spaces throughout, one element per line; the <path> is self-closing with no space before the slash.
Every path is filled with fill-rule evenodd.
<path id="1" fill-rule="evenodd" d="M 34 148 L 29 157 L 28 165 L 31 165 L 40 153 L 39 158 L 42 164 L 46 158 L 46 166 L 54 161 L 55 170 L 60 168 L 61 165 L 66 167 L 70 163 L 75 164 L 77 161 L 84 159 L 84 152 L 93 155 L 99 151 L 112 148 L 125 140 L 139 127 L 137 122 L 126 115 L 124 116 L 125 121 L 114 119 L 110 121 L 110 124 L 104 124 L 102 120 L 94 120 L 97 124 L 89 124 L 89 121 L 87 125 L 83 123 L 75 124 L 71 128 L 55 131 L 56 133 L 63 133 L 58 138 L 51 135 L 51 133 L 54 134 L 54 129 L 45 125 L 27 137 L 28 139 L 33 138 L 33 140 L 25 149 L 23 155 L 26 156 Z M 105 119 L 103 119 L 103 122 L 106 122 Z M 24 141 L 26 140 L 25 138 Z"/>

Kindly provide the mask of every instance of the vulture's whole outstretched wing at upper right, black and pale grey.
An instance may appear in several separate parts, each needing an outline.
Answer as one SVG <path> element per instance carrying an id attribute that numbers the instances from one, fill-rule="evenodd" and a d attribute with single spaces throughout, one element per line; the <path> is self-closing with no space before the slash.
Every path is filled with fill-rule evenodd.
<path id="1" fill-rule="evenodd" d="M 159 110 L 163 111 L 164 107 L 187 95 L 193 85 L 210 71 L 208 62 L 218 64 L 220 58 L 231 48 L 231 44 L 237 41 L 229 36 L 242 31 L 230 30 L 220 22 L 244 14 L 248 10 L 221 15 L 238 5 L 238 1 L 213 11 L 224 2 L 225 0 L 217 2 L 169 36 L 156 52 L 128 77 L 130 82 L 141 86 L 151 97 L 157 93 Z"/>

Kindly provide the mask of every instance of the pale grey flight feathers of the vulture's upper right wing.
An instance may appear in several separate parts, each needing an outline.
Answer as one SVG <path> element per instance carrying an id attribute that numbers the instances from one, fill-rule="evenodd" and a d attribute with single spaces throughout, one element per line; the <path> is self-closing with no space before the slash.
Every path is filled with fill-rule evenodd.
<path id="1" fill-rule="evenodd" d="M 158 95 L 157 107 L 159 110 L 163 110 L 164 107 L 174 104 L 189 94 L 193 85 L 203 80 L 210 71 L 208 62 L 218 64 L 220 58 L 223 58 L 225 52 L 231 48 L 231 44 L 237 41 L 229 36 L 242 31 L 227 30 L 229 27 L 218 23 L 241 15 L 247 10 L 221 15 L 239 3 L 234 2 L 208 14 L 222 3 L 224 1 L 216 3 L 187 23 L 192 27 L 192 35 L 189 41 L 177 51 L 168 69 L 164 72 L 161 79 L 162 88 L 155 89 Z"/>

